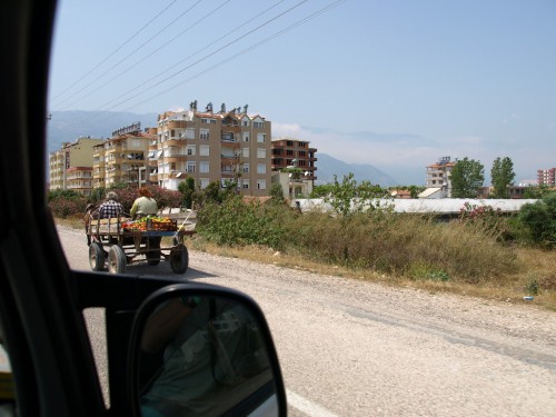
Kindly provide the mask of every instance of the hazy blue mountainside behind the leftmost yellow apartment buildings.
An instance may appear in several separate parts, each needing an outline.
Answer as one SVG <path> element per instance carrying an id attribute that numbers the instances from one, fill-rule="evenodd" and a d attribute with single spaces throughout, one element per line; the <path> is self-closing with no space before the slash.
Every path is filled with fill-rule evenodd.
<path id="1" fill-rule="evenodd" d="M 110 138 L 112 131 L 141 122 L 141 128 L 156 127 L 157 113 L 136 115 L 117 111 L 53 111 L 47 126 L 47 149 L 49 152 L 60 149 L 62 142 L 72 142 L 82 136 Z"/>

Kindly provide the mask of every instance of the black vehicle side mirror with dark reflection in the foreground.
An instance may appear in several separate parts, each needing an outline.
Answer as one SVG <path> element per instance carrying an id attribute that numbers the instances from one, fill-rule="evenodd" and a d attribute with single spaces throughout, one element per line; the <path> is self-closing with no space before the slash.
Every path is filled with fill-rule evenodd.
<path id="1" fill-rule="evenodd" d="M 133 415 L 287 415 L 270 330 L 241 292 L 165 287 L 139 308 L 130 340 Z"/>

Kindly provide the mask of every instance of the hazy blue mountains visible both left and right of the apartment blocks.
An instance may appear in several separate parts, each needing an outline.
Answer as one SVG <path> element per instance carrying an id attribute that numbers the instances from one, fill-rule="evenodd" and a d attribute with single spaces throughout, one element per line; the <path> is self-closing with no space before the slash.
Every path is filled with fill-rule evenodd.
<path id="1" fill-rule="evenodd" d="M 72 142 L 80 137 L 108 139 L 113 130 L 137 121 L 141 122 L 141 128 L 156 127 L 157 117 L 157 113 L 137 115 L 118 111 L 54 111 L 48 121 L 47 149 L 49 152 L 59 150 L 63 142 Z M 318 143 L 314 145 L 318 148 Z M 371 165 L 348 163 L 322 152 L 317 152 L 316 156 L 317 183 L 331 182 L 335 175 L 341 180 L 351 172 L 357 181 L 368 180 L 381 187 L 397 185 L 393 177 Z"/>

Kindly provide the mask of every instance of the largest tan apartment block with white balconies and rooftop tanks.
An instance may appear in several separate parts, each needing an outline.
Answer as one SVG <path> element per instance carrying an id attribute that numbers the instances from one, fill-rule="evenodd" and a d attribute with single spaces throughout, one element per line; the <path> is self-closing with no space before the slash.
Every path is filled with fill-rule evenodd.
<path id="1" fill-rule="evenodd" d="M 210 182 L 237 181 L 244 196 L 267 196 L 270 188 L 271 123 L 248 107 L 205 111 L 197 101 L 185 111 L 159 115 L 157 137 L 149 145 L 150 182 L 178 189 L 187 177 L 201 189 Z"/>

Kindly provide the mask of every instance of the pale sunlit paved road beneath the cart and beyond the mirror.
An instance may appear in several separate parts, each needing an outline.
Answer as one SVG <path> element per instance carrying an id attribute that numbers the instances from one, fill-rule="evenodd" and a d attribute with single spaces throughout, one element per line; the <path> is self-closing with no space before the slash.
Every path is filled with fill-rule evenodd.
<path id="1" fill-rule="evenodd" d="M 59 230 L 70 266 L 88 269 L 82 235 Z M 128 271 L 172 274 L 166 264 Z M 290 416 L 556 416 L 554 312 L 201 252 L 182 279 L 257 299 Z M 88 321 L 103 369 L 100 311 Z"/>

